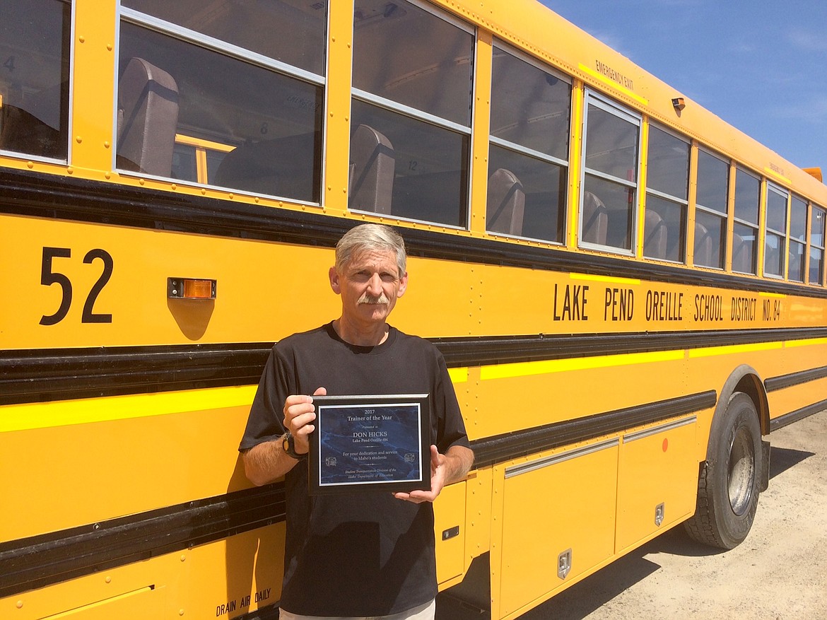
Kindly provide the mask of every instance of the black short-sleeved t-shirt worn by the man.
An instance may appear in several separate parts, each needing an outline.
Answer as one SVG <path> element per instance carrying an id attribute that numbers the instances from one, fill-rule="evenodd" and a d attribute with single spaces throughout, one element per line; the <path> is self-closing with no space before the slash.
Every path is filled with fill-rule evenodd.
<path id="1" fill-rule="evenodd" d="M 319 387 L 330 395 L 428 393 L 431 443 L 442 454 L 469 445 L 435 346 L 393 327 L 379 346 L 353 346 L 328 323 L 273 347 L 240 449 L 281 436 L 284 399 Z M 387 491 L 310 497 L 306 460 L 284 483 L 285 609 L 311 616 L 379 616 L 436 596 L 431 503 L 400 501 Z"/>

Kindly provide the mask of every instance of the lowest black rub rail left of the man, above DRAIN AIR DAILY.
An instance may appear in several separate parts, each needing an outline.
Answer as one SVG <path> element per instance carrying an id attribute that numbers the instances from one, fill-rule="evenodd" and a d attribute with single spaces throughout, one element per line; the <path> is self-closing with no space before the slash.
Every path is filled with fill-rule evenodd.
<path id="1" fill-rule="evenodd" d="M 284 484 L 0 543 L 0 599 L 284 521 Z"/>

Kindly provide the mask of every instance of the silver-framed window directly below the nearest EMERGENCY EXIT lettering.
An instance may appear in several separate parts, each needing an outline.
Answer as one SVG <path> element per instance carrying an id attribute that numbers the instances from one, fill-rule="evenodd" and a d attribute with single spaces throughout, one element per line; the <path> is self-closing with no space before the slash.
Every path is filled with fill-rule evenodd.
<path id="1" fill-rule="evenodd" d="M 586 96 L 581 242 L 631 252 L 634 246 L 638 195 L 640 119 L 619 107 Z M 591 217 L 594 203 L 605 213 L 605 227 L 594 235 L 592 226 L 602 218 Z M 605 231 L 605 235 L 604 235 Z"/>

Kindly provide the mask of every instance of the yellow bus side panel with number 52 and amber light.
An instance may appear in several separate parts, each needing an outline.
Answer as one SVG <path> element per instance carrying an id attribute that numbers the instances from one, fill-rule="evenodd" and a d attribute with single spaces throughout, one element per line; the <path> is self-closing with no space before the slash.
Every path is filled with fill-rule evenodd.
<path id="1" fill-rule="evenodd" d="M 0 260 L 20 266 L 0 274 L 16 299 L 0 308 L 3 349 L 275 341 L 318 327 L 341 308 L 327 281 L 332 250 L 29 217 L 0 222 Z M 60 308 L 65 293 L 41 284 L 45 247 L 69 251 L 50 269 L 72 286 L 65 319 L 49 326 L 41 318 Z M 84 262 L 97 249 L 112 257 L 112 276 L 93 309 L 112 322 L 82 319 L 103 274 L 101 260 Z M 216 298 L 169 299 L 168 278 L 214 279 Z"/>

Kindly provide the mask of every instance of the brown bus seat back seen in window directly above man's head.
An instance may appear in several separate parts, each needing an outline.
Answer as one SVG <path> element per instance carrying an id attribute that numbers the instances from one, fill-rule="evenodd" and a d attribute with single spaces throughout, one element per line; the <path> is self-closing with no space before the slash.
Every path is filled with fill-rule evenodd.
<path id="1" fill-rule="evenodd" d="M 394 146 L 373 127 L 360 125 L 351 136 L 349 207 L 390 214 L 394 192 Z"/>

